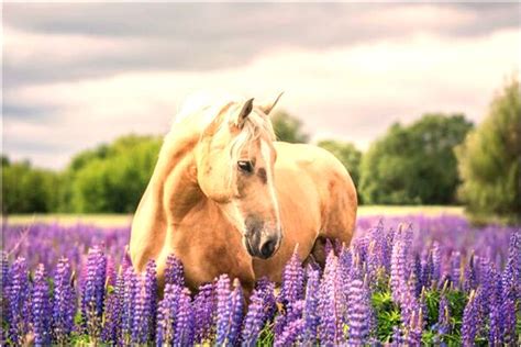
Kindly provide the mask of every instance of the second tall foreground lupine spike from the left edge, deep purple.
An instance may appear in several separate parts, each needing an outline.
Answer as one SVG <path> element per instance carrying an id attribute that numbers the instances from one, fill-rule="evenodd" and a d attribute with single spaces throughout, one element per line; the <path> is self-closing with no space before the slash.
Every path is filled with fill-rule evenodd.
<path id="1" fill-rule="evenodd" d="M 35 346 L 47 346 L 51 344 L 51 303 L 48 298 L 48 284 L 45 267 L 40 264 L 34 273 L 32 294 L 32 325 Z"/>

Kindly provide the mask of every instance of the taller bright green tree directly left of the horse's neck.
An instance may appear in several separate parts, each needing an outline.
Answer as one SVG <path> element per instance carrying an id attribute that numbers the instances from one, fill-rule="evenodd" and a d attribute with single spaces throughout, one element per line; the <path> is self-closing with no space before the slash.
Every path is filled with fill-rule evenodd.
<path id="1" fill-rule="evenodd" d="M 123 136 L 77 155 L 64 181 L 63 210 L 79 213 L 134 212 L 152 176 L 162 139 Z"/>

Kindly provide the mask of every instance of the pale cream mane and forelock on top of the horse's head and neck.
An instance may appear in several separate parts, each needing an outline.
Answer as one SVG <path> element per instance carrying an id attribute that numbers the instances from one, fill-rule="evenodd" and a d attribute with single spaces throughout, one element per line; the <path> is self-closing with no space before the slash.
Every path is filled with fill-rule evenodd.
<path id="1" fill-rule="evenodd" d="M 245 101 L 246 99 L 244 98 L 230 94 L 193 94 L 187 98 L 180 111 L 177 113 L 170 132 L 175 131 L 176 126 L 180 125 L 184 121 L 198 115 L 201 116 L 201 128 L 209 126 L 220 114 L 224 117 L 221 126 L 228 125 L 233 122 L 233 116 L 236 115 Z M 239 108 L 232 107 L 233 104 L 237 104 Z M 245 146 L 250 146 L 250 144 L 260 136 L 275 141 L 275 133 L 269 116 L 259 108 L 254 108 L 252 113 L 246 117 L 241 133 L 235 136 L 231 143 L 230 156 L 232 163 L 239 160 L 242 149 Z"/>

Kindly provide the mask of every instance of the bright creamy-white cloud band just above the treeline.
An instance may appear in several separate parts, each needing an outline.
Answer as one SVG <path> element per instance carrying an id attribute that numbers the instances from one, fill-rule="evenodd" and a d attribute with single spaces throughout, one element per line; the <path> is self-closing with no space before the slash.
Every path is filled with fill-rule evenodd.
<path id="1" fill-rule="evenodd" d="M 284 90 L 280 108 L 300 116 L 315 139 L 333 136 L 366 148 L 392 122 L 410 122 L 423 112 L 465 112 L 479 121 L 502 78 L 519 68 L 512 47 L 520 41 L 519 30 L 508 29 L 451 40 L 417 32 L 320 51 L 271 48 L 247 64 L 219 69 L 126 70 L 19 85 L 5 91 L 4 101 L 52 108 L 53 121 L 4 110 L 4 150 L 40 166 L 64 167 L 77 150 L 115 136 L 166 133 L 180 102 L 201 89 L 257 100 Z M 38 145 L 47 148 L 32 153 Z"/>

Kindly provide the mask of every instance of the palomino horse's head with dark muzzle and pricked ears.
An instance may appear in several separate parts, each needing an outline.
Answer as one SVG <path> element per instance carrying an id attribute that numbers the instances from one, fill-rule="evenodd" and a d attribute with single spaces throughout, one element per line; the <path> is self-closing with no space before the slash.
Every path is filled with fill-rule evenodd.
<path id="1" fill-rule="evenodd" d="M 230 102 L 212 117 L 199 142 L 197 179 L 241 232 L 253 257 L 267 259 L 280 246 L 282 230 L 274 184 L 277 153 L 269 105 L 253 99 Z"/>

